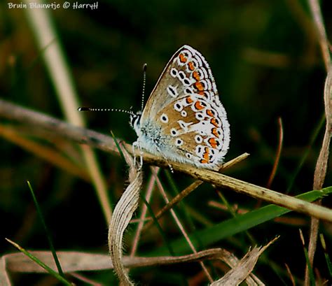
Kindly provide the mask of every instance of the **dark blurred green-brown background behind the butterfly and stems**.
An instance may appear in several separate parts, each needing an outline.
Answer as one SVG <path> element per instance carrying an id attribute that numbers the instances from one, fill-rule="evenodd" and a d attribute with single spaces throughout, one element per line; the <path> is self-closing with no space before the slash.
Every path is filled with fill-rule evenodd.
<path id="1" fill-rule="evenodd" d="M 55 2 L 63 3 L 62 0 Z M 9 9 L 7 3 L 0 3 L 0 96 L 62 119 L 55 88 L 27 22 L 27 11 Z M 331 37 L 331 1 L 321 1 L 321 10 Z M 306 1 L 104 0 L 98 1 L 95 10 L 59 8 L 48 13 L 62 43 L 82 106 L 139 110 L 143 64 L 148 64 L 147 98 L 173 53 L 181 45 L 192 45 L 209 62 L 221 102 L 228 112 L 231 143 L 226 159 L 243 152 L 251 154 L 227 174 L 266 185 L 279 138 L 277 118 L 281 117 L 284 146 L 272 190 L 286 192 L 291 186 L 291 195 L 312 190 L 324 131 L 318 128 L 324 114 L 326 71 Z M 129 143 L 136 138 L 124 113 L 83 115 L 91 129 L 104 134 L 112 130 Z M 11 124 L 2 118 L 0 123 Z M 310 140 L 317 131 L 317 140 L 310 148 Z M 48 249 L 26 180 L 34 186 L 57 249 L 106 252 L 107 227 L 92 186 L 3 138 L 0 142 L 0 253 L 13 251 L 4 237 L 26 248 Z M 298 164 L 308 148 L 309 155 L 296 176 Z M 125 163 L 120 158 L 96 152 L 114 203 L 125 186 Z M 328 168 L 331 170 L 331 163 Z M 174 180 L 180 188 L 192 182 L 178 174 L 174 174 Z M 294 184 L 290 185 L 292 180 Z M 331 183 L 328 173 L 325 185 Z M 230 203 L 239 203 L 243 208 L 256 206 L 256 200 L 247 196 L 233 192 L 225 195 Z M 211 222 L 221 222 L 229 215 L 207 205 L 210 200 L 218 199 L 211 186 L 202 185 L 187 201 Z M 331 199 L 324 200 L 324 204 L 331 206 Z M 252 229 L 252 234 L 258 244 L 281 234 L 278 246 L 271 250 L 272 260 L 282 267 L 287 263 L 294 275 L 303 278 L 305 259 L 298 228 L 303 228 L 306 234 L 309 220 L 296 214 L 292 216 L 301 217 L 304 224 L 271 222 Z M 331 228 L 322 231 L 331 245 Z M 134 227 L 130 231 L 133 233 Z M 151 242 L 153 238 L 148 234 L 146 237 L 146 245 L 139 248 L 140 255 L 156 247 Z M 245 240 L 240 234 L 214 246 L 228 248 L 241 256 L 243 252 L 239 250 L 246 250 L 250 245 Z M 289 285 L 289 280 L 277 277 L 266 265 L 260 267 L 256 273 L 267 285 Z M 199 271 L 196 265 L 193 270 L 181 266 L 164 269 L 164 273 L 184 272 L 190 277 L 195 270 Z M 160 269 L 146 273 L 149 271 L 153 278 L 162 277 Z M 22 278 L 16 279 L 22 283 Z M 170 280 L 170 285 L 176 284 Z"/>

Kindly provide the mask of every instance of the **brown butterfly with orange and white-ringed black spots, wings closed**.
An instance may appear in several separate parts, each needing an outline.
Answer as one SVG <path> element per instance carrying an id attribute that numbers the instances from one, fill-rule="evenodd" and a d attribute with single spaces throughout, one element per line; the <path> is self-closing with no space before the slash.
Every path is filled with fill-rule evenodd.
<path id="1" fill-rule="evenodd" d="M 212 71 L 189 45 L 172 56 L 130 124 L 137 133 L 133 145 L 167 162 L 218 169 L 230 144 L 230 124 Z"/>

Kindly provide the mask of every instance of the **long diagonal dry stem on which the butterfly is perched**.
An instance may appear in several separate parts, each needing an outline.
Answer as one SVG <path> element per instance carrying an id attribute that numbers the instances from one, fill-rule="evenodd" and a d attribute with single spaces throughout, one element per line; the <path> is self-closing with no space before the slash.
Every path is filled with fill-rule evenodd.
<path id="1" fill-rule="evenodd" d="M 111 136 L 99 134 L 98 132 L 83 129 L 81 127 L 74 127 L 71 124 L 57 120 L 48 115 L 36 113 L 32 110 L 16 106 L 13 103 L 8 103 L 1 99 L 0 117 L 6 117 L 9 120 L 25 123 L 34 126 L 34 128 L 50 130 L 57 134 L 57 136 L 67 138 L 67 140 L 89 144 L 92 147 L 99 148 L 106 152 L 118 154 Z M 131 145 L 125 144 L 125 147 L 128 152 L 132 152 Z M 138 150 L 136 155 L 140 155 Z M 144 162 L 148 164 L 154 164 L 165 168 L 169 167 L 168 162 L 165 162 L 165 159 L 156 157 L 155 155 L 151 155 L 146 152 L 143 153 L 143 159 Z M 295 210 L 298 213 L 305 213 L 306 215 L 332 222 L 332 210 L 328 210 L 328 208 L 317 206 L 313 203 L 307 203 L 306 201 L 296 199 L 292 196 L 274 192 L 264 187 L 259 187 L 242 180 L 216 173 L 215 171 L 197 169 L 193 166 L 178 163 L 172 163 L 172 167 L 175 171 L 186 173 L 188 176 L 191 176 L 197 180 L 212 183 L 218 187 L 225 187 L 227 189 L 234 190 L 235 192 L 253 196 L 256 199 L 262 199 L 263 201 L 268 201 L 269 203 L 275 203 L 278 206 L 284 206 L 285 208 Z"/>

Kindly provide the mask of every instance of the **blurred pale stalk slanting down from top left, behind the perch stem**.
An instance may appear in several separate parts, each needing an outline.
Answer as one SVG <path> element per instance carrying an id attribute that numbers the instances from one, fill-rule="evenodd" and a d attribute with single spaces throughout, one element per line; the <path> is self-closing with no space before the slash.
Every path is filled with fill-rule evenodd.
<path id="1" fill-rule="evenodd" d="M 25 3 L 38 3 L 40 0 L 25 0 Z M 60 45 L 60 40 L 53 26 L 53 22 L 47 9 L 25 9 L 27 19 L 32 27 L 32 31 L 39 45 L 39 49 L 43 51 L 43 60 L 48 69 L 48 73 L 53 82 L 58 101 L 62 108 L 64 116 L 68 122 L 79 127 L 85 125 L 83 117 L 78 113 L 77 108 L 78 96 L 74 86 L 74 80 L 71 76 L 69 66 L 64 57 L 64 52 Z M 51 43 L 51 44 L 50 44 Z M 92 178 L 92 184 L 97 192 L 99 203 L 102 206 L 106 222 L 109 222 L 112 215 L 111 201 L 107 196 L 107 188 L 99 164 L 95 157 L 95 153 L 88 146 L 81 146 L 83 157 L 85 159 L 86 168 Z"/>

